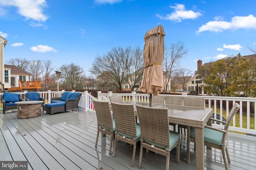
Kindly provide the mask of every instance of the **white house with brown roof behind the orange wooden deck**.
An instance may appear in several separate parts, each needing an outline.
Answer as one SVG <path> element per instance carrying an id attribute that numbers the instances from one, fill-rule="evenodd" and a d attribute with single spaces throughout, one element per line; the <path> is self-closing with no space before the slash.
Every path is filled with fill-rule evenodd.
<path id="1" fill-rule="evenodd" d="M 4 89 L 19 87 L 20 81 L 30 81 L 31 73 L 14 65 L 4 64 Z"/>

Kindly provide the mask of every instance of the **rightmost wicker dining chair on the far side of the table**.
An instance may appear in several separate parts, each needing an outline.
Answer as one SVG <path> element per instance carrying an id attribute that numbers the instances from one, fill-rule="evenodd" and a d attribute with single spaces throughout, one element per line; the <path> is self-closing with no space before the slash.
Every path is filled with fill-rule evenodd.
<path id="1" fill-rule="evenodd" d="M 205 99 L 197 98 L 197 97 L 184 97 L 183 106 L 205 108 Z M 186 135 L 187 126 L 178 124 L 178 132 L 180 132 L 181 134 L 182 134 L 182 129 L 184 129 L 184 135 Z"/>

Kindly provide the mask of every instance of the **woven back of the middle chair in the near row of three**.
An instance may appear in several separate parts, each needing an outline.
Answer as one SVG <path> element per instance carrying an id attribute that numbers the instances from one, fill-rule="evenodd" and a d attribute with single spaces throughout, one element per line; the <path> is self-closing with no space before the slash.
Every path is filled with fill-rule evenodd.
<path id="1" fill-rule="evenodd" d="M 133 104 L 118 104 L 111 102 L 113 116 L 115 118 L 116 132 L 137 137 L 136 118 Z"/>

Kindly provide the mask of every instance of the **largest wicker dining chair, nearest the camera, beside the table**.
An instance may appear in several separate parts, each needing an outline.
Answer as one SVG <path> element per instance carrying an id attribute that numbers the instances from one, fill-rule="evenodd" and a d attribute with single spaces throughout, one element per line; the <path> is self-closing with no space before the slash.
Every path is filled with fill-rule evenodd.
<path id="1" fill-rule="evenodd" d="M 169 130 L 168 109 L 136 105 L 140 120 L 141 168 L 143 148 L 166 156 L 166 170 L 169 170 L 170 151 L 176 147 L 176 162 L 180 163 L 180 133 Z"/>

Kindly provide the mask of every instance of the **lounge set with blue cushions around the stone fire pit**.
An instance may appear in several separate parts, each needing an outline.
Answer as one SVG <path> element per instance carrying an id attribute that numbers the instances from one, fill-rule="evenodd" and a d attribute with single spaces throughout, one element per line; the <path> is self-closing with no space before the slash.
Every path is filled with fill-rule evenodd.
<path id="1" fill-rule="evenodd" d="M 5 92 L 1 95 L 3 103 L 3 113 L 7 110 L 17 109 L 18 118 L 30 118 L 41 115 L 43 111 L 46 113 L 67 112 L 70 109 L 78 109 L 78 102 L 81 98 L 81 93 L 64 92 L 61 98 L 52 98 L 51 103 L 44 104 L 44 98 L 40 98 L 38 92 L 27 92 L 22 99 L 21 94 Z"/>

